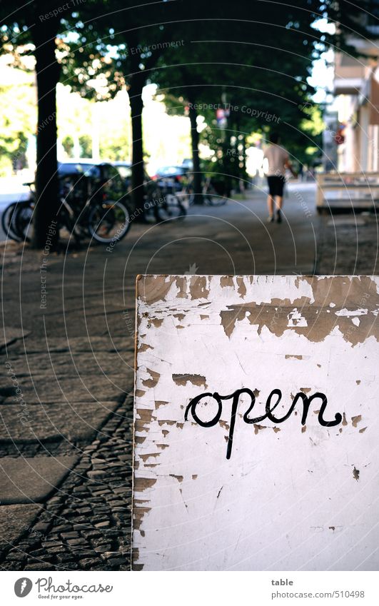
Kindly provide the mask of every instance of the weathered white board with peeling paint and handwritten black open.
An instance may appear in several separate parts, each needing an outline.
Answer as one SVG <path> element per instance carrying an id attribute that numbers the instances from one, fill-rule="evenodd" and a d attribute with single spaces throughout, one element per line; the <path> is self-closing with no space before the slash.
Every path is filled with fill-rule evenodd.
<path id="1" fill-rule="evenodd" d="M 139 278 L 135 569 L 378 570 L 378 292 L 367 276 Z M 305 425 L 301 402 L 249 425 L 241 395 L 227 460 L 231 400 L 212 427 L 185 410 L 243 387 L 253 416 L 280 388 L 280 415 L 322 392 L 343 418 L 320 425 L 316 399 Z"/>

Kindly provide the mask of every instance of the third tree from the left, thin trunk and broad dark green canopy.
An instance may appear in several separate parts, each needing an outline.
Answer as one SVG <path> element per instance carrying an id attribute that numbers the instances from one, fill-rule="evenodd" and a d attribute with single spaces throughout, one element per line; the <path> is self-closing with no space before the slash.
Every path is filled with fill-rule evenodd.
<path id="1" fill-rule="evenodd" d="M 216 0 L 182 5 L 176 35 L 186 44 L 178 54 L 161 56 L 153 78 L 168 99 L 176 96 L 177 111 L 183 105 L 189 108 L 199 202 L 198 143 L 204 136 L 216 147 L 213 167 L 226 183 L 243 175 L 241 162 L 227 151 L 244 147 L 251 131 L 267 134 L 281 123 L 286 138 L 297 137 L 304 118 L 300 106 L 313 93 L 307 82 L 310 66 L 323 49 L 322 34 L 313 28 L 322 4 L 309 0 L 306 9 L 303 4 L 241 0 L 238 11 L 224 3 L 222 14 Z M 216 108 L 229 114 L 223 129 L 216 124 Z M 208 124 L 201 137 L 196 129 L 198 112 Z"/>

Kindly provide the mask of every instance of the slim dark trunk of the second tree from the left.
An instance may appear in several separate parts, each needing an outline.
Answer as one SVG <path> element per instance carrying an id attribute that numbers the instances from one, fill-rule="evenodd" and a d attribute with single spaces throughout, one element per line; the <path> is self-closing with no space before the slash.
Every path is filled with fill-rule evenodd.
<path id="1" fill-rule="evenodd" d="M 142 138 L 142 89 L 145 84 L 143 74 L 133 74 L 128 90 L 131 105 L 132 167 L 131 196 L 136 221 L 143 221 L 144 213 L 144 176 L 143 176 L 143 138 Z"/>

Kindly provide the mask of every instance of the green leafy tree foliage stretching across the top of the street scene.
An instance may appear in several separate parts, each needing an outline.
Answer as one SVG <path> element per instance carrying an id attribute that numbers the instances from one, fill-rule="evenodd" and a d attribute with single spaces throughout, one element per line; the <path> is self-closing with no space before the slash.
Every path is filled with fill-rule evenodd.
<path id="1" fill-rule="evenodd" d="M 4 19 L 1 50 L 13 54 L 15 65 L 32 52 L 31 25 L 59 6 L 56 0 L 16 2 L 11 17 L 6 3 L 0 7 Z M 56 33 L 61 81 L 85 99 L 113 99 L 141 76 L 144 84 L 158 84 L 170 115 L 185 115 L 190 99 L 211 104 L 212 108 L 198 112 L 207 125 L 201 143 L 213 149 L 213 165 L 218 170 L 236 175 L 244 168 L 233 155 L 227 156 L 226 166 L 226 148 L 233 148 L 236 141 L 244 146 L 254 132 L 266 138 L 274 128 L 280 130 L 283 141 L 303 160 L 317 149 L 323 129 L 320 110 L 317 106 L 311 113 L 306 110 L 314 92 L 307 81 L 312 61 L 328 44 L 355 53 L 352 32 L 367 35 L 375 16 L 378 1 L 373 0 L 362 0 L 359 9 L 348 0 L 293 0 L 290 4 L 240 0 L 237 6 L 219 0 L 177 0 L 157 1 L 148 9 L 145 2 L 135 0 L 86 0 L 46 21 L 46 27 Z M 314 21 L 320 18 L 338 24 L 335 34 L 315 29 Z M 36 111 L 29 101 L 31 88 L 9 94 L 14 97 L 11 101 L 3 86 L 0 95 L 8 109 L 0 118 L 0 151 L 11 161 L 12 154 L 20 151 L 21 155 L 26 139 L 35 131 Z M 21 103 L 21 97 L 26 103 Z M 231 111 L 226 130 L 220 130 L 214 106 L 224 103 L 239 109 Z M 74 133 L 80 112 L 74 111 L 69 126 L 69 116 L 62 115 L 65 111 L 60 105 L 64 148 L 73 153 L 75 138 L 80 136 L 89 152 L 88 133 L 81 128 Z M 91 117 L 80 116 L 87 128 Z M 105 128 L 101 152 L 110 158 L 129 156 L 129 128 L 128 121 L 120 124 L 119 134 Z"/>

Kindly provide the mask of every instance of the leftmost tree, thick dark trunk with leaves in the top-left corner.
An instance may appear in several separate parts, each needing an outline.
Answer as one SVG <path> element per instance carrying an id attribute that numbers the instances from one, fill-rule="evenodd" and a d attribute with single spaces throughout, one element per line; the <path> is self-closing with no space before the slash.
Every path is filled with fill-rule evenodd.
<path id="1" fill-rule="evenodd" d="M 91 4 L 89 0 L 87 4 Z M 59 0 L 21 0 L 0 4 L 1 52 L 33 55 L 36 64 L 38 117 L 36 124 L 36 207 L 33 244 L 44 248 L 49 225 L 56 218 L 58 174 L 56 158 L 56 84 L 59 81 L 59 47 L 66 34 L 63 17 L 80 3 Z M 59 234 L 56 233 L 56 241 Z"/>

